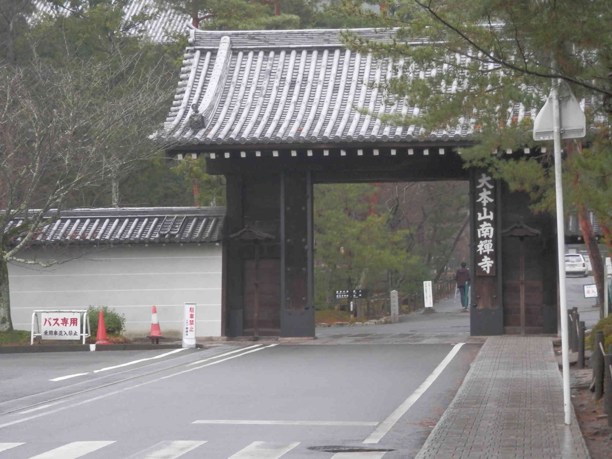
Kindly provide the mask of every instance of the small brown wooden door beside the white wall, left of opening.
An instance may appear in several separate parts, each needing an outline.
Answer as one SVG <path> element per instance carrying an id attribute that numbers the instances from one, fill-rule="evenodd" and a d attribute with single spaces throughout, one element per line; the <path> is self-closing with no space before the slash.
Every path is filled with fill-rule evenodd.
<path id="1" fill-rule="evenodd" d="M 255 282 L 258 286 L 258 336 L 280 336 L 280 259 L 244 260 L 244 335 L 255 336 Z"/>

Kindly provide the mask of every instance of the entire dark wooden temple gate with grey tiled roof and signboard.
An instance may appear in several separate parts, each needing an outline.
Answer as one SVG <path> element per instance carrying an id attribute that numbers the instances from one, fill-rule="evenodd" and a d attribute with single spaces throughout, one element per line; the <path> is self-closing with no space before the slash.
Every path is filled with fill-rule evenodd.
<path id="1" fill-rule="evenodd" d="M 471 334 L 556 334 L 553 220 L 463 168 L 469 120 L 427 132 L 362 113 L 418 109 L 379 94 L 390 63 L 346 50 L 340 32 L 190 31 L 162 135 L 170 154 L 204 154 L 207 172 L 226 177 L 222 333 L 315 334 L 314 184 L 469 180 Z"/>

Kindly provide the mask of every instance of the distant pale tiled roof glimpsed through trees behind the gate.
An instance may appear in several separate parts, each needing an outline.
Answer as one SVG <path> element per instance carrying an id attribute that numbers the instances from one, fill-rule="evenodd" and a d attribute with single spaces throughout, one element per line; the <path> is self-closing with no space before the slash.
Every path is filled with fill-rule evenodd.
<path id="1" fill-rule="evenodd" d="M 35 0 L 34 6 L 40 12 L 48 14 L 53 13 L 53 10 L 46 1 Z M 160 8 L 155 0 L 133 0 L 125 5 L 124 10 L 124 22 L 129 21 L 137 14 L 144 13 L 145 10 L 159 12 L 157 18 L 147 21 L 147 23 L 144 24 L 146 27 L 146 34 L 152 41 L 157 43 L 167 42 L 169 35 L 174 32 L 184 32 L 186 23 L 189 20 L 187 16 L 181 13 Z"/>

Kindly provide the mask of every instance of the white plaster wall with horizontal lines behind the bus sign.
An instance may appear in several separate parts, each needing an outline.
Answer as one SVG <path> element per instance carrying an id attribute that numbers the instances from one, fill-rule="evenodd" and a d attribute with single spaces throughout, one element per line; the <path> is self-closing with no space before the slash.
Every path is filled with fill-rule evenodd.
<path id="1" fill-rule="evenodd" d="M 80 250 L 80 252 L 79 252 Z M 221 335 L 221 245 L 134 244 L 92 250 L 33 248 L 23 258 L 70 259 L 50 268 L 9 264 L 13 327 L 29 330 L 35 309 L 108 306 L 125 335 L 146 336 L 152 305 L 163 335 L 181 337 L 183 303 L 196 303 L 196 335 Z"/>

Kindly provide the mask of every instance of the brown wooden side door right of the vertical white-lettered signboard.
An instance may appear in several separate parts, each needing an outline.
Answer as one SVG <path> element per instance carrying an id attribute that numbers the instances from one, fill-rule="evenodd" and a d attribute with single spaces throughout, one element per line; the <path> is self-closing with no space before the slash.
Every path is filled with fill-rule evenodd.
<path id="1" fill-rule="evenodd" d="M 543 271 L 539 237 L 504 237 L 504 334 L 543 333 Z"/>

